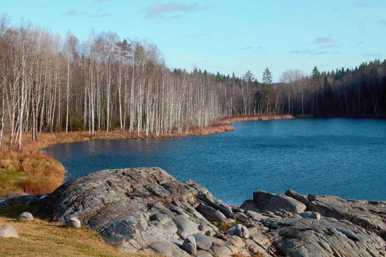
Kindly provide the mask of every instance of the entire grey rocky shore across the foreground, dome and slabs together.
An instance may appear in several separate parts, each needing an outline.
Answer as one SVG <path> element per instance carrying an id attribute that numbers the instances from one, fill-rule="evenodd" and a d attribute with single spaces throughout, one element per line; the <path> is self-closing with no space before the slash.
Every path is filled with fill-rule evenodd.
<path id="1" fill-rule="evenodd" d="M 386 202 L 289 189 L 255 191 L 234 208 L 157 167 L 98 171 L 43 198 L 0 197 L 0 208 L 17 203 L 41 205 L 52 221 L 77 218 L 130 254 L 386 256 Z"/>

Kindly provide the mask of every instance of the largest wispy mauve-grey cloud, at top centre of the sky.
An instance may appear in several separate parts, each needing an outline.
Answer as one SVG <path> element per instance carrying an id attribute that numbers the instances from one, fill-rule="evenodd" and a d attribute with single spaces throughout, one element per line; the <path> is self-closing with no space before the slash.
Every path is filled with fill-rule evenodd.
<path id="1" fill-rule="evenodd" d="M 191 5 L 186 5 L 185 3 L 153 3 L 151 6 L 143 8 L 142 12 L 145 12 L 145 18 L 164 18 L 166 13 L 175 13 L 175 12 L 195 12 L 205 9 L 214 8 L 215 5 L 202 5 L 199 6 L 197 3 L 192 3 Z M 178 14 L 181 15 L 181 14 Z M 176 17 L 173 15 L 172 17 Z M 179 16 L 181 17 L 181 16 Z"/>

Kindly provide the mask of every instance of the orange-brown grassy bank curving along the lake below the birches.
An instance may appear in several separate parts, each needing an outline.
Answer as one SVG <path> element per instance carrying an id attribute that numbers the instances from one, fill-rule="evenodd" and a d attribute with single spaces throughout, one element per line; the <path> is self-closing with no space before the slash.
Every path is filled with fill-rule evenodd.
<path id="1" fill-rule="evenodd" d="M 52 192 L 63 183 L 65 169 L 60 162 L 40 150 L 49 144 L 79 142 L 100 139 L 131 139 L 150 137 L 185 137 L 208 135 L 234 130 L 229 123 L 247 120 L 276 120 L 293 118 L 291 115 L 250 115 L 232 116 L 219 120 L 206 128 L 190 127 L 183 134 L 172 131 L 171 134 L 139 134 L 137 132 L 100 131 L 90 135 L 88 131 L 42 133 L 33 141 L 30 135 L 24 135 L 22 149 L 19 151 L 3 147 L 0 149 L 0 195 L 25 192 L 44 194 Z M 185 131 L 188 130 L 188 133 Z M 5 137 L 7 139 L 7 137 Z M 5 142 L 8 145 L 8 142 Z"/>

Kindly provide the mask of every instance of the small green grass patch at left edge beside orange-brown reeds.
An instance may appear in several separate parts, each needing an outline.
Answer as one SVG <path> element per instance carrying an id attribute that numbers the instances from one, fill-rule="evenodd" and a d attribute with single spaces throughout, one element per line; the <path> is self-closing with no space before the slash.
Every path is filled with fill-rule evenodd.
<path id="1" fill-rule="evenodd" d="M 0 195 L 10 192 L 23 192 L 20 185 L 26 178 L 28 178 L 27 172 L 14 171 L 12 169 L 0 169 Z"/>

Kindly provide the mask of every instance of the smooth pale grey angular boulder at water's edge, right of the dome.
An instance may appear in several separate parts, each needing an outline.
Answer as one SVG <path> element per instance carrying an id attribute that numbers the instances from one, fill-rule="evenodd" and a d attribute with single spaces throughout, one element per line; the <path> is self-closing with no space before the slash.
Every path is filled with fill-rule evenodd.
<path id="1" fill-rule="evenodd" d="M 273 196 L 264 206 L 264 210 L 267 211 L 282 209 L 292 213 L 302 213 L 306 210 L 306 208 L 307 207 L 303 203 L 282 194 Z"/>

